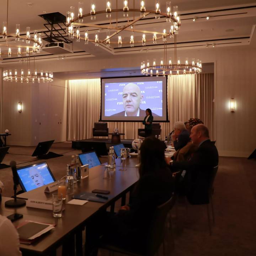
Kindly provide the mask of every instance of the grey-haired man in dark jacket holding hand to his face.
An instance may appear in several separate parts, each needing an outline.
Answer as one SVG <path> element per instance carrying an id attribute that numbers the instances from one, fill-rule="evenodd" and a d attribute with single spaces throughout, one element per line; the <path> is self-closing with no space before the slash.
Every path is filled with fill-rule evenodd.
<path id="1" fill-rule="evenodd" d="M 175 150 L 179 150 L 186 146 L 190 141 L 190 134 L 188 133 L 186 126 L 183 122 L 176 122 L 174 124 L 174 133 L 172 134 L 172 141 L 174 143 Z"/>

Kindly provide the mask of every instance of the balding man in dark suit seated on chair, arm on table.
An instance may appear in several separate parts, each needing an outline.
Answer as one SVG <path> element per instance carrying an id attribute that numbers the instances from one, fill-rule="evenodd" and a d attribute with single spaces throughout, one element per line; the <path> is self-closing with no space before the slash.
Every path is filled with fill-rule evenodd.
<path id="1" fill-rule="evenodd" d="M 218 150 L 210 141 L 208 128 L 203 124 L 197 124 L 191 129 L 190 138 L 198 146 L 197 150 L 188 161 L 172 162 L 171 169 L 186 170 L 180 189 L 186 193 L 191 204 L 208 203 L 210 175 L 213 167 L 218 166 Z"/>

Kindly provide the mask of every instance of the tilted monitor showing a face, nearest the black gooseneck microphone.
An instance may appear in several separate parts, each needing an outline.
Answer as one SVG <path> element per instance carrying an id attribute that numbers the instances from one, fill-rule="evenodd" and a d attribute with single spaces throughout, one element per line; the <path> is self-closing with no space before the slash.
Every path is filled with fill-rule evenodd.
<path id="1" fill-rule="evenodd" d="M 56 181 L 47 162 L 19 167 L 17 168 L 17 174 L 24 192 Z"/>

